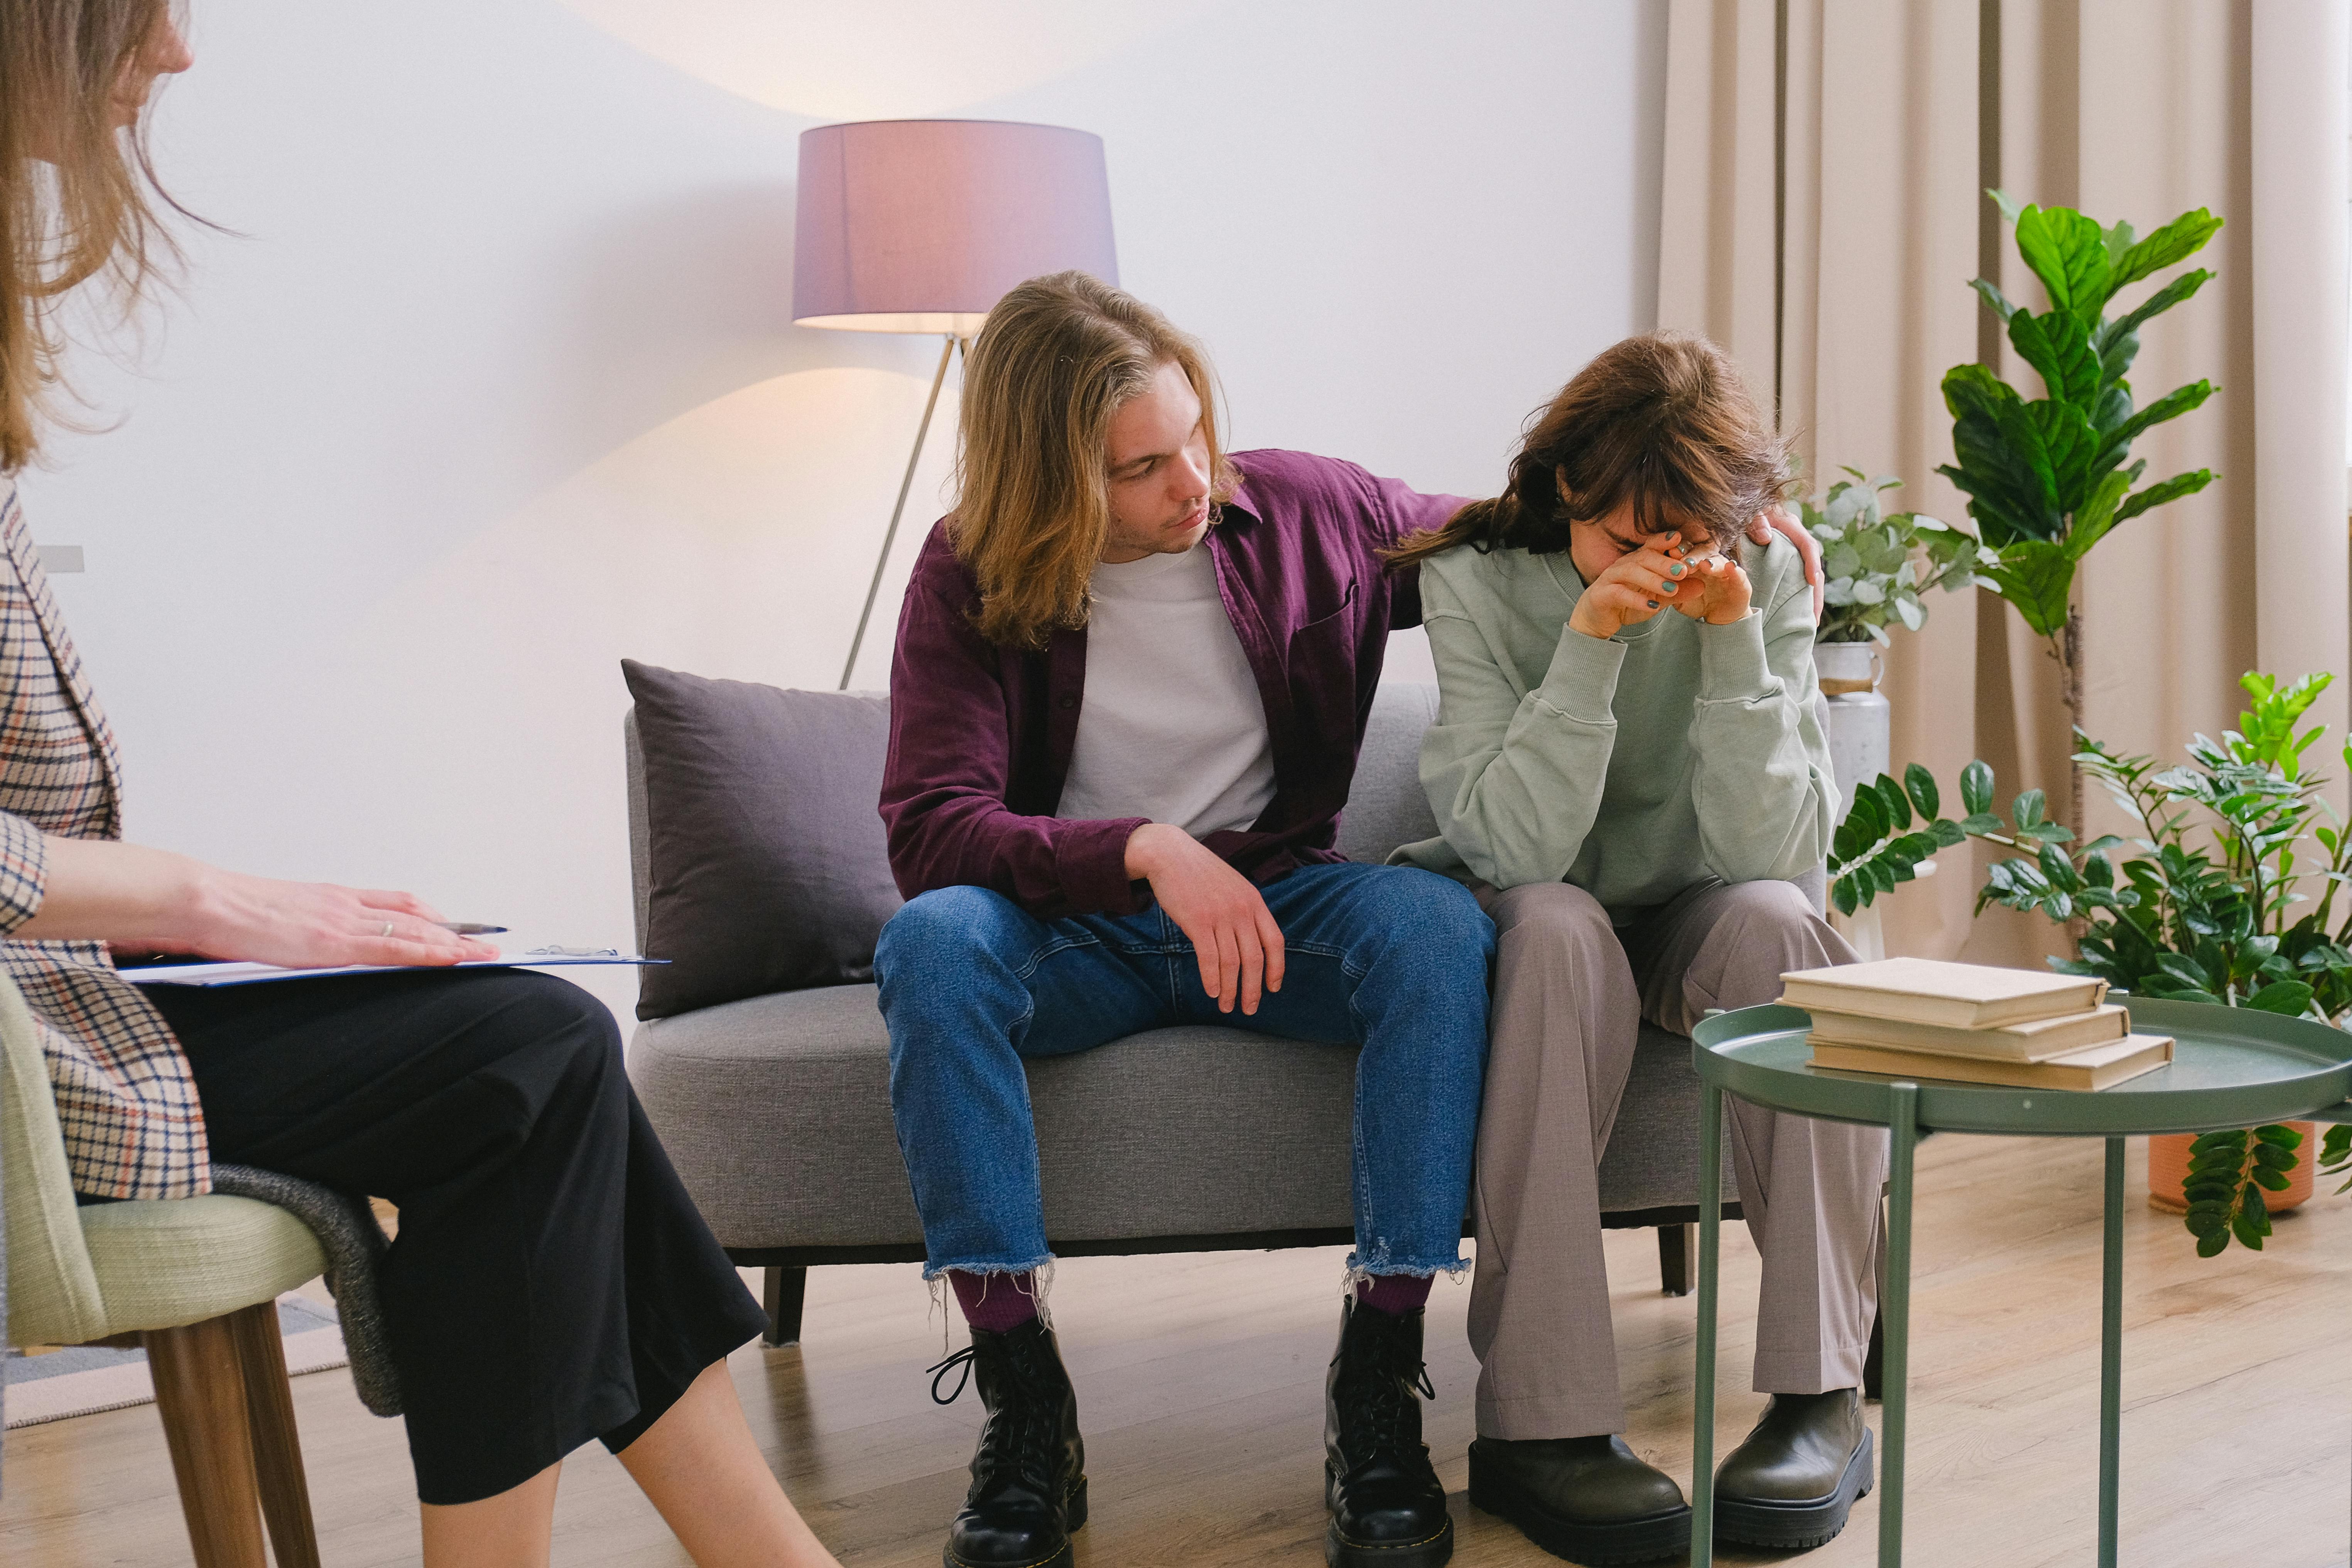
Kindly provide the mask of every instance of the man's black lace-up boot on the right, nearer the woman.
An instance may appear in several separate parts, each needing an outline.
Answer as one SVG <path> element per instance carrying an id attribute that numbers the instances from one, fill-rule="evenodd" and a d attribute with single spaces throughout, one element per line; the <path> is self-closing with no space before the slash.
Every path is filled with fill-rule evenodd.
<path id="1" fill-rule="evenodd" d="M 1341 1309 L 1338 1354 L 1324 1378 L 1324 1507 L 1331 1568 L 1437 1568 L 1454 1556 L 1454 1516 L 1421 1441 L 1421 1309 Z"/>

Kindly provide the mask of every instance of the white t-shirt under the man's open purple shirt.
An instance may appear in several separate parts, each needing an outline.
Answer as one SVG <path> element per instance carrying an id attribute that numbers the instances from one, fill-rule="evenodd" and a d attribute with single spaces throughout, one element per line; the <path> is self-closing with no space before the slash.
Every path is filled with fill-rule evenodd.
<path id="1" fill-rule="evenodd" d="M 1265 703 L 1209 548 L 1098 564 L 1087 698 L 1054 816 L 1148 816 L 1207 837 L 1249 827 L 1272 797 Z"/>

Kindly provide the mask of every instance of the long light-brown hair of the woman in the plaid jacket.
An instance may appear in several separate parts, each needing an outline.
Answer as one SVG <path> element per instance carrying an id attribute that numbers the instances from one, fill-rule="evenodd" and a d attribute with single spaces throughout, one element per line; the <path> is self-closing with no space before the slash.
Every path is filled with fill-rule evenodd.
<path id="1" fill-rule="evenodd" d="M 106 277 L 127 313 L 176 259 L 146 115 L 113 125 L 115 87 L 169 0 L 0 2 L 0 473 L 24 468 L 59 386 L 59 299 Z"/>

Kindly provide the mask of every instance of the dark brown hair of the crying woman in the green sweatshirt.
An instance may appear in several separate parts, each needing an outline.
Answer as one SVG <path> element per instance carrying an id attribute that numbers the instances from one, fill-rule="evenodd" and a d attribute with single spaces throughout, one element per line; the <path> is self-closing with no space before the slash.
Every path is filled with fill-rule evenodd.
<path id="1" fill-rule="evenodd" d="M 1411 567 L 1454 545 L 1550 555 L 1569 548 L 1569 524 L 1625 503 L 1644 534 L 1696 522 L 1731 550 L 1790 484 L 1788 442 L 1764 423 L 1731 355 L 1700 336 L 1651 331 L 1595 355 L 1529 418 L 1501 496 L 1414 534 L 1388 559 Z"/>

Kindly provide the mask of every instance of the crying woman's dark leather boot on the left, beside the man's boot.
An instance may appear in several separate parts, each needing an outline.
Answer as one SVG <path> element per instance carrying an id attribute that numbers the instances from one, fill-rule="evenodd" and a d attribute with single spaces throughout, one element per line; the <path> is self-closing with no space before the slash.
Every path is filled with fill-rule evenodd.
<path id="1" fill-rule="evenodd" d="M 1621 1436 L 1470 1443 L 1470 1502 L 1571 1563 L 1653 1563 L 1691 1549 L 1691 1505 Z"/>

